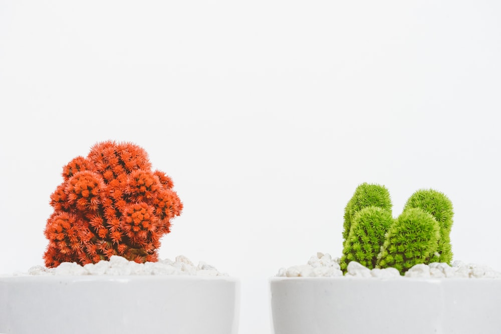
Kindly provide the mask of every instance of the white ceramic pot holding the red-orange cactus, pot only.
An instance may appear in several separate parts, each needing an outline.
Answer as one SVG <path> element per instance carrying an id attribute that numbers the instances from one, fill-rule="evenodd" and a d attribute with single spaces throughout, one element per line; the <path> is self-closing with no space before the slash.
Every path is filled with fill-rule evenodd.
<path id="1" fill-rule="evenodd" d="M 236 334 L 239 285 L 230 277 L 0 277 L 0 333 Z"/>

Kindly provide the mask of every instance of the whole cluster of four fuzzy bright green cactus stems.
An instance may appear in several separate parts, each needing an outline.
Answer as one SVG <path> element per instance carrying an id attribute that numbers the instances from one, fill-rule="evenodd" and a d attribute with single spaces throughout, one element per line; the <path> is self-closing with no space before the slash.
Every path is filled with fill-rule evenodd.
<path id="1" fill-rule="evenodd" d="M 403 274 L 419 263 L 450 264 L 452 215 L 447 196 L 421 189 L 393 218 L 388 190 L 363 183 L 345 208 L 341 269 L 357 261 L 369 269 L 394 267 Z"/>

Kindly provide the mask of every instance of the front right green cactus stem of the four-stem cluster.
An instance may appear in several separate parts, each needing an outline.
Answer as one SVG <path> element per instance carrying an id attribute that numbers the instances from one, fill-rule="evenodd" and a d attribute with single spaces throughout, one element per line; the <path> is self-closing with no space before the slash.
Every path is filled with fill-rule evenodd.
<path id="1" fill-rule="evenodd" d="M 428 263 L 437 250 L 439 237 L 439 223 L 430 213 L 407 208 L 388 230 L 376 266 L 394 267 L 403 274 L 413 265 Z"/>

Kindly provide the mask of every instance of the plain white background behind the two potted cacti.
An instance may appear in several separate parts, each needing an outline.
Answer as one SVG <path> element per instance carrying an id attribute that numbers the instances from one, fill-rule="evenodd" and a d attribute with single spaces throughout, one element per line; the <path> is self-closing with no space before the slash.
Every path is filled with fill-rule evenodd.
<path id="1" fill-rule="evenodd" d="M 185 208 L 161 258 L 268 279 L 339 256 L 362 182 L 454 205 L 454 259 L 501 270 L 497 1 L 0 1 L 0 273 L 42 264 L 62 166 L 132 141 Z"/>

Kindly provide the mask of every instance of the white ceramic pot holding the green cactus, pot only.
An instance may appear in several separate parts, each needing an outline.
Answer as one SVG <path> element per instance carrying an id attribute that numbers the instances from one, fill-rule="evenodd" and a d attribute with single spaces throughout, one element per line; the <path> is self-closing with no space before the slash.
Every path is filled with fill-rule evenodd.
<path id="1" fill-rule="evenodd" d="M 273 277 L 275 334 L 499 334 L 501 279 Z"/>

